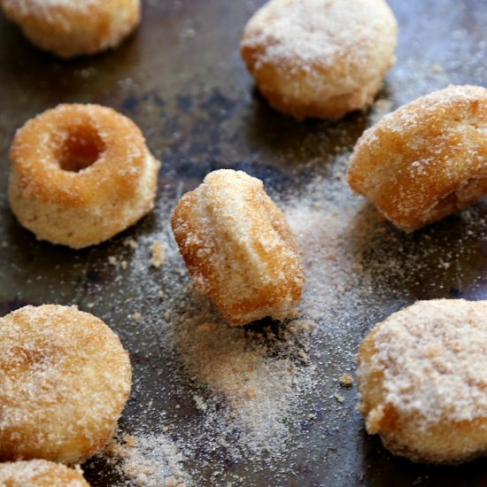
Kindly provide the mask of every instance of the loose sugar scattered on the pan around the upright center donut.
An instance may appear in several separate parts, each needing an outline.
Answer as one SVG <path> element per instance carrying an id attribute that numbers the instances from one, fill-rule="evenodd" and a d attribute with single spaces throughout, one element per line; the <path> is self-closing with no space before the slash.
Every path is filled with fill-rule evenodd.
<path id="1" fill-rule="evenodd" d="M 145 404 L 146 394 L 162 387 L 166 404 L 173 406 L 167 406 L 161 433 L 135 433 L 152 448 L 142 449 L 136 462 L 147 465 L 146 455 L 163 455 L 161 437 L 170 433 L 177 451 L 173 460 L 182 455 L 178 471 L 191 477 L 189 484 L 209 482 L 215 468 L 223 473 L 218 480 L 212 477 L 214 484 L 237 482 L 227 462 L 238 466 L 251 461 L 253 469 L 263 456 L 268 460 L 261 475 L 271 468 L 273 482 L 285 483 L 290 471 L 284 466 L 304 441 L 303 421 L 313 421 L 326 438 L 333 434 L 330 431 L 342 430 L 344 421 L 357 421 L 359 428 L 353 412 L 356 402 L 348 390 L 352 375 L 342 371 L 354 370 L 359 341 L 384 318 L 383 303 L 395 310 L 418 292 L 444 293 L 444 282 L 465 280 L 468 266 L 457 263 L 468 263 L 469 240 L 484 238 L 479 211 L 471 208 L 448 224 L 407 236 L 372 205 L 352 196 L 344 179 L 348 158 L 348 152 L 340 153 L 329 162 L 326 174 L 298 192 L 271 194 L 297 237 L 306 274 L 298 318 L 281 325 L 263 321 L 229 327 L 221 320 L 189 282 L 169 227 L 170 210 L 159 202 L 155 214 L 163 216 L 151 234 L 138 237 L 140 245 L 124 282 L 133 290 L 130 305 L 144 313 L 144 345 L 134 344 L 133 352 L 143 357 L 150 353 L 144 351 L 145 344 L 158 343 L 154 353 L 163 350 L 164 367 L 171 370 L 166 375 L 161 369 L 158 383 L 144 385 L 149 380 L 145 376 L 136 379 L 135 400 Z M 166 251 L 163 274 L 147 266 L 146 249 L 155 240 Z M 96 292 L 95 288 L 92 294 Z M 119 298 L 123 307 L 125 294 L 114 293 L 114 304 Z M 147 357 L 151 361 L 151 355 Z M 340 394 L 334 377 L 341 373 Z M 328 398 L 320 414 L 310 412 L 316 398 Z M 131 421 L 140 425 L 147 414 L 154 414 L 151 402 L 146 407 L 147 413 Z M 237 471 L 252 484 L 244 471 Z M 253 475 L 260 475 L 257 471 Z"/>

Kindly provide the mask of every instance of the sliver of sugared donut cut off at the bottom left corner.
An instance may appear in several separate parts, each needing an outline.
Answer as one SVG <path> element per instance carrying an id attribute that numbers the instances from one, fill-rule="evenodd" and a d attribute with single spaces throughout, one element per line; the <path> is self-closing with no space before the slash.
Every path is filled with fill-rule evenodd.
<path id="1" fill-rule="evenodd" d="M 89 487 L 81 471 L 46 460 L 0 463 L 1 487 Z"/>

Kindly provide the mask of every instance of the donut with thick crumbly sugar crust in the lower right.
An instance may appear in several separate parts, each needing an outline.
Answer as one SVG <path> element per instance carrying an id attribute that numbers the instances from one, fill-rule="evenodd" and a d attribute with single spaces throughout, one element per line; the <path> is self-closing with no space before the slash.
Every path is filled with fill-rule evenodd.
<path id="1" fill-rule="evenodd" d="M 390 452 L 460 463 L 487 453 L 487 301 L 418 301 L 360 344 L 359 411 Z"/>

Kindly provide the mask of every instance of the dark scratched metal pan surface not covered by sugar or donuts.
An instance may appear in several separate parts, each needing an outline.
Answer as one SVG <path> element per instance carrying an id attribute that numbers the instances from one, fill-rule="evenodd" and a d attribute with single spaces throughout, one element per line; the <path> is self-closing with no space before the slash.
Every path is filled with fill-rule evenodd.
<path id="1" fill-rule="evenodd" d="M 4 243 L 0 312 L 26 304 L 76 304 L 109 322 L 131 353 L 135 383 L 144 384 L 135 388 L 121 419 L 128 430 L 135 428 L 134 421 L 145 423 L 147 429 L 157 426 L 157 414 L 146 413 L 149 403 L 156 413 L 174 413 L 177 402 L 184 405 L 180 396 L 190 393 L 166 387 L 159 394 L 161 377 L 174 374 L 171 360 L 160 353 L 158 339 L 138 332 L 129 319 L 135 311 L 133 283 L 118 279 L 105 266 L 109 255 L 128 255 L 125 238 L 150 236 L 157 219 L 150 215 L 94 249 L 75 252 L 38 243 L 9 210 L 9 145 L 16 128 L 36 113 L 60 102 L 94 102 L 127 114 L 143 130 L 151 150 L 163 162 L 159 198 L 166 200 L 167 207 L 220 167 L 259 176 L 274 193 L 299 190 L 316 174 L 326 177 L 327 156 L 336 146 L 350 150 L 372 116 L 354 113 L 336 123 L 298 122 L 267 106 L 238 52 L 243 25 L 261 3 L 152 0 L 144 4 L 141 27 L 120 49 L 67 62 L 35 50 L 0 16 L 0 241 Z M 390 0 L 390 4 L 399 24 L 398 63 L 380 94 L 390 110 L 450 82 L 486 84 L 484 0 Z M 322 164 L 309 164 L 317 158 Z M 481 216 L 486 213 L 482 203 L 475 211 Z M 323 376 L 339 376 L 351 369 L 351 357 L 367 329 L 401 305 L 418 298 L 487 297 L 483 226 L 470 227 L 467 238 L 462 220 L 452 217 L 424 231 L 431 232 L 436 251 L 402 284 L 398 285 L 397 276 L 389 276 L 390 296 L 383 293 L 370 313 L 358 319 L 345 340 L 349 353 L 335 354 L 321 371 Z M 416 238 L 420 237 L 402 236 L 388 228 L 385 235 L 370 236 L 369 257 L 374 259 L 376 254 L 380 259 L 377 249 L 392 241 L 411 252 L 414 245 L 421 246 Z M 468 252 L 460 251 L 460 246 L 468 246 Z M 442 253 L 452 250 L 458 250 L 454 268 L 438 274 Z M 96 305 L 89 308 L 95 294 Z M 321 346 L 326 349 L 327 344 Z M 392 457 L 377 438 L 364 432 L 354 410 L 354 389 L 344 390 L 344 414 L 339 417 L 323 406 L 328 392 L 317 390 L 306 405 L 314 407 L 316 419 L 296 433 L 298 440 L 303 435 L 305 448 L 287 452 L 273 464 L 254 459 L 243 465 L 220 458 L 221 482 L 238 474 L 246 485 L 487 485 L 485 460 L 452 468 Z M 191 421 L 192 411 L 184 407 L 181 421 Z M 330 423 L 335 428 L 329 429 Z M 275 475 L 277 471 L 285 473 Z M 198 474 L 200 484 L 214 482 L 212 470 Z M 89 466 L 86 475 L 93 485 L 117 480 L 100 463 Z"/>

